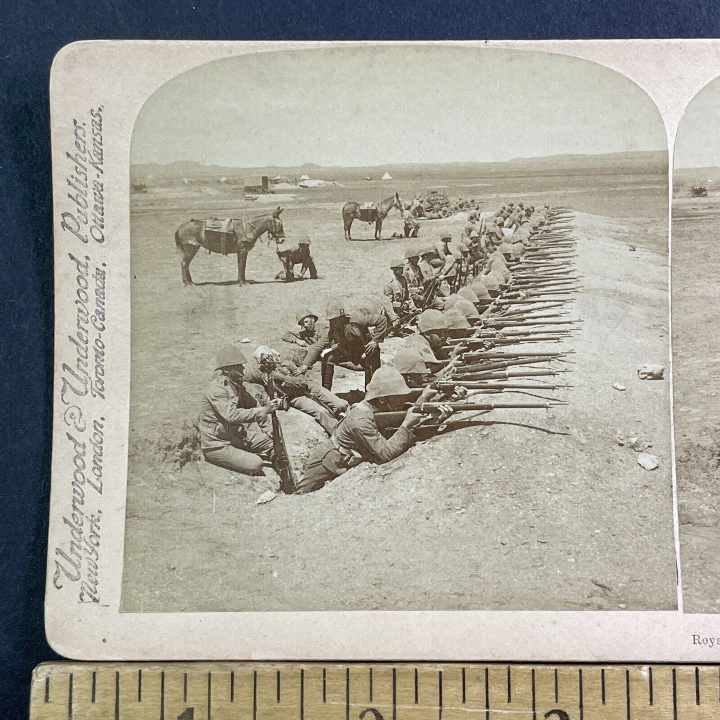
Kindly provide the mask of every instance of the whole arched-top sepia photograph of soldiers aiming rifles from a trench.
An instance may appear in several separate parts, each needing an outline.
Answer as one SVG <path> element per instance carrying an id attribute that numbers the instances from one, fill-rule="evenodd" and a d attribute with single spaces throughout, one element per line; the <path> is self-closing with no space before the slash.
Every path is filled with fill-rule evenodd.
<path id="1" fill-rule="evenodd" d="M 649 96 L 567 55 L 162 84 L 127 178 L 121 611 L 677 609 L 667 163 Z"/>

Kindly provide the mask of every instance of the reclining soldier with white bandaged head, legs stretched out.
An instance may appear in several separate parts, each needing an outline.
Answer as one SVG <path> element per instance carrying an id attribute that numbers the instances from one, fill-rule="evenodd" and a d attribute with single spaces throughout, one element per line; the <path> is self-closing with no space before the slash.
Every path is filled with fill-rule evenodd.
<path id="1" fill-rule="evenodd" d="M 260 385 L 267 395 L 310 415 L 328 435 L 333 434 L 338 418 L 348 409 L 345 400 L 318 384 L 311 386 L 304 377 L 293 377 L 292 364 L 283 362 L 279 352 L 272 348 L 258 346 L 254 357 L 257 368 L 246 370 L 245 382 Z"/>

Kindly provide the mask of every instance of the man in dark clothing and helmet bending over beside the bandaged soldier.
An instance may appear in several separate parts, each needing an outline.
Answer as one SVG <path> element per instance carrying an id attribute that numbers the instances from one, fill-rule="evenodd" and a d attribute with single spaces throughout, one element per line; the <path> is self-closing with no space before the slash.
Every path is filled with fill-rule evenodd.
<path id="1" fill-rule="evenodd" d="M 323 387 L 331 390 L 335 366 L 349 362 L 364 370 L 367 387 L 380 366 L 379 343 L 390 329 L 387 316 L 379 313 L 351 315 L 345 312 L 343 302 L 330 300 L 325 320 L 330 322 L 328 335 L 318 338 L 307 351 L 302 368 L 308 369 L 322 360 Z"/>

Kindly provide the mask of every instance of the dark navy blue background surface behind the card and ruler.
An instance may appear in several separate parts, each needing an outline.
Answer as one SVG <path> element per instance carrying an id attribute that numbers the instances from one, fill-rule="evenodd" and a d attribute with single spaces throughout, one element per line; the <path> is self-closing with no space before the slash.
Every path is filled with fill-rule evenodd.
<path id="1" fill-rule="evenodd" d="M 9 0 L 0 8 L 0 711 L 27 716 L 45 643 L 53 228 L 48 76 L 93 38 L 348 40 L 718 37 L 714 0 Z M 138 68 L 142 72 L 142 68 Z"/>

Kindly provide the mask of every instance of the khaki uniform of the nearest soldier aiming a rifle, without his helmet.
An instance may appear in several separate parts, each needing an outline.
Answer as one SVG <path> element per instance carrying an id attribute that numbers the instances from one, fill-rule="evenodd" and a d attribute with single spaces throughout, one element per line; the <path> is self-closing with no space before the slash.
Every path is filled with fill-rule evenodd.
<path id="1" fill-rule="evenodd" d="M 359 402 L 348 410 L 333 436 L 310 453 L 295 492 L 304 494 L 320 490 L 326 482 L 357 464 L 354 452 L 364 461 L 390 462 L 402 455 L 414 439 L 413 431 L 400 427 L 386 440 L 377 429 L 372 405 Z"/>

